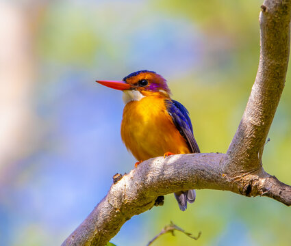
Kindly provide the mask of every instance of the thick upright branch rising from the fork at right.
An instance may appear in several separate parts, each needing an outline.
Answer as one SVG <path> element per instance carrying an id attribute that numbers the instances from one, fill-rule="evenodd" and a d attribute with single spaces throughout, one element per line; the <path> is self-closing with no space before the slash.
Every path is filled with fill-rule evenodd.
<path id="1" fill-rule="evenodd" d="M 264 1 L 260 12 L 261 51 L 257 77 L 231 141 L 229 172 L 260 167 L 264 143 L 286 80 L 290 53 L 290 1 Z"/>

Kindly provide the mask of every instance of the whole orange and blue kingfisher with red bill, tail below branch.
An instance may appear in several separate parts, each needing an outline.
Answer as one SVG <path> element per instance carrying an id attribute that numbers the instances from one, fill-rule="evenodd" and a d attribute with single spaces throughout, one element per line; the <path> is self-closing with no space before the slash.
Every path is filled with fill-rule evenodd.
<path id="1" fill-rule="evenodd" d="M 149 70 L 132 72 L 122 81 L 96 81 L 123 91 L 121 138 L 137 159 L 142 161 L 171 154 L 199 153 L 188 110 L 170 98 L 170 89 L 160 74 Z M 195 200 L 194 190 L 174 193 L 179 208 Z"/>

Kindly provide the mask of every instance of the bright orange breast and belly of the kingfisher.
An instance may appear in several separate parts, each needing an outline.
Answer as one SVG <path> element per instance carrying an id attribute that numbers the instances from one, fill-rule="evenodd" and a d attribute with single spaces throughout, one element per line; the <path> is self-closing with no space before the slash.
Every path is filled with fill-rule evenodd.
<path id="1" fill-rule="evenodd" d="M 125 105 L 121 138 L 138 161 L 165 152 L 190 153 L 184 137 L 173 123 L 162 96 L 146 96 Z"/>

